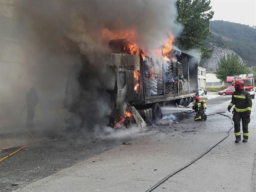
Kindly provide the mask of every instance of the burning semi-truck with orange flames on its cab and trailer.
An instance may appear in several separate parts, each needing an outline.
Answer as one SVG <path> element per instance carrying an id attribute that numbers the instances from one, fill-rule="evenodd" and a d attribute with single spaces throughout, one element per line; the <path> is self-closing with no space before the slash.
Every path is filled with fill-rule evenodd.
<path id="1" fill-rule="evenodd" d="M 156 50 L 160 57 L 153 59 L 127 39 L 110 40 L 109 46 L 112 53 L 108 56 L 108 68 L 113 86 L 102 92 L 112 102 L 110 126 L 128 127 L 136 123 L 143 127 L 162 119 L 162 106 L 188 106 L 193 102 L 198 90 L 198 59 L 167 46 Z M 66 104 L 70 112 L 77 114 L 73 107 L 74 90 L 78 89 L 72 86 L 70 76 Z M 70 125 L 72 121 L 69 118 L 65 122 Z"/>

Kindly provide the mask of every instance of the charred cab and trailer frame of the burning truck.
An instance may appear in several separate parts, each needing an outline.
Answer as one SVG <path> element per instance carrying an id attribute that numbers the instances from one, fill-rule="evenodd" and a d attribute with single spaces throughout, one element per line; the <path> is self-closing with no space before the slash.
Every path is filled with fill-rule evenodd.
<path id="1" fill-rule="evenodd" d="M 198 90 L 198 60 L 173 49 L 158 73 L 154 61 L 143 52 L 130 53 L 125 40 L 112 40 L 110 67 L 116 71 L 112 101 L 115 114 L 126 115 L 126 104 L 134 106 L 145 121 L 162 119 L 161 106 L 176 102 L 188 106 Z M 157 61 L 159 62 L 159 61 Z M 113 115 L 115 115 L 113 113 Z"/>

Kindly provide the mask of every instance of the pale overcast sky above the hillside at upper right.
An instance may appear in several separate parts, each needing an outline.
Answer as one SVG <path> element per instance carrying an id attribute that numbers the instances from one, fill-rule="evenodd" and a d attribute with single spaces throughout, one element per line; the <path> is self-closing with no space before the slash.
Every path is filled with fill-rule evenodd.
<path id="1" fill-rule="evenodd" d="M 256 0 L 211 0 L 212 20 L 256 26 Z"/>

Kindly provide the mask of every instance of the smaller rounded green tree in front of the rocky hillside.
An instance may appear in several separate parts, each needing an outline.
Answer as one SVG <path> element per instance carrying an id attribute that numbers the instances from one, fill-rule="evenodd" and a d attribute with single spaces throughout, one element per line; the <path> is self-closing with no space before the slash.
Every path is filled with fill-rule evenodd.
<path id="1" fill-rule="evenodd" d="M 248 74 L 249 70 L 240 62 L 237 54 L 228 54 L 220 58 L 219 68 L 216 70 L 216 76 L 222 82 L 226 82 L 227 76 Z"/>

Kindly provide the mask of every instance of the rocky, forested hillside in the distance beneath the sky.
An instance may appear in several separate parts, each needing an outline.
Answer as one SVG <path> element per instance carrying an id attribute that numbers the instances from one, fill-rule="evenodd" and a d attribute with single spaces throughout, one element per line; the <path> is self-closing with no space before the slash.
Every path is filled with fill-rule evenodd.
<path id="1" fill-rule="evenodd" d="M 211 58 L 201 61 L 200 66 L 207 70 L 216 70 L 218 61 L 227 54 L 236 53 L 248 67 L 256 66 L 256 29 L 247 25 L 211 21 L 212 34 L 206 39 L 206 46 L 211 48 Z"/>

